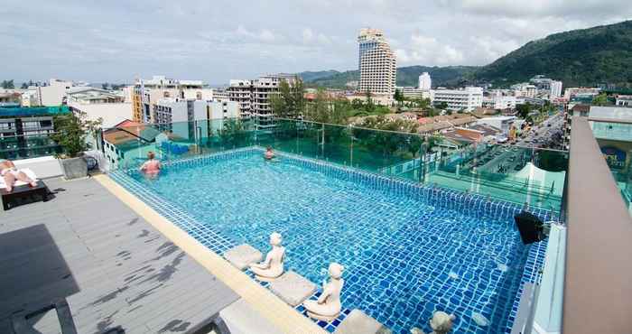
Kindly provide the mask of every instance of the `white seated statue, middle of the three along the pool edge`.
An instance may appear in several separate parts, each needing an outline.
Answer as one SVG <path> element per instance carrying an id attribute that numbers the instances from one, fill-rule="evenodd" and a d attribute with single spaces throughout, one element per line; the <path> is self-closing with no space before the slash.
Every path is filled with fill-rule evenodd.
<path id="1" fill-rule="evenodd" d="M 322 283 L 322 293 L 317 301 L 305 301 L 302 306 L 307 310 L 307 314 L 318 320 L 334 320 L 338 317 L 342 305 L 340 304 L 340 292 L 345 283 L 342 271 L 345 268 L 337 263 L 330 264 L 330 282 Z"/>

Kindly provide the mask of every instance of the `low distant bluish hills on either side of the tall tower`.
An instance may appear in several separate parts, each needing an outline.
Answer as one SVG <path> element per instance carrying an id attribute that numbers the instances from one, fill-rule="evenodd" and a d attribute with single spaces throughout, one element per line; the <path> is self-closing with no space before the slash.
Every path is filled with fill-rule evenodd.
<path id="1" fill-rule="evenodd" d="M 407 66 L 397 69 L 397 86 L 417 86 L 419 75 L 430 73 L 432 86 L 455 86 L 462 79 L 476 70 L 474 66 Z M 345 88 L 349 81 L 360 79 L 358 70 L 339 72 L 337 70 L 301 72 L 299 76 L 308 86 L 326 88 Z"/>

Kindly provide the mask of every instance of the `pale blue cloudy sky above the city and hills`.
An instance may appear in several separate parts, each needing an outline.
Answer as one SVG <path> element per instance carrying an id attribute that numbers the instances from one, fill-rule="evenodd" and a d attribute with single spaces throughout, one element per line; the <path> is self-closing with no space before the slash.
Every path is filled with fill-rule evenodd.
<path id="1" fill-rule="evenodd" d="M 627 0 L 30 0 L 0 7 L 0 79 L 228 79 L 357 67 L 380 28 L 397 65 L 483 65 L 552 32 L 632 17 Z"/>

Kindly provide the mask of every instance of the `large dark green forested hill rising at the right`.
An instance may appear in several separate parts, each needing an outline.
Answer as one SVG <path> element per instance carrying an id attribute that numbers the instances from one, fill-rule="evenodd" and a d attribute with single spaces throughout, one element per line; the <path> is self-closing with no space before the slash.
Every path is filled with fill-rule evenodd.
<path id="1" fill-rule="evenodd" d="M 632 21 L 555 33 L 526 43 L 469 79 L 506 86 L 537 74 L 564 87 L 632 82 Z"/>

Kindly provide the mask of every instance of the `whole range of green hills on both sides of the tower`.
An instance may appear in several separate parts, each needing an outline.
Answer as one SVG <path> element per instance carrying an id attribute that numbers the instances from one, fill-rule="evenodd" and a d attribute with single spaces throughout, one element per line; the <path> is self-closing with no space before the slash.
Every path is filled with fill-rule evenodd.
<path id="1" fill-rule="evenodd" d="M 482 67 L 402 67 L 397 69 L 397 86 L 417 86 L 422 72 L 430 73 L 433 87 L 486 82 L 507 87 L 538 74 L 562 80 L 564 87 L 632 87 L 632 21 L 554 33 Z M 359 79 L 358 70 L 299 75 L 312 87 L 344 88 L 347 82 Z"/>

